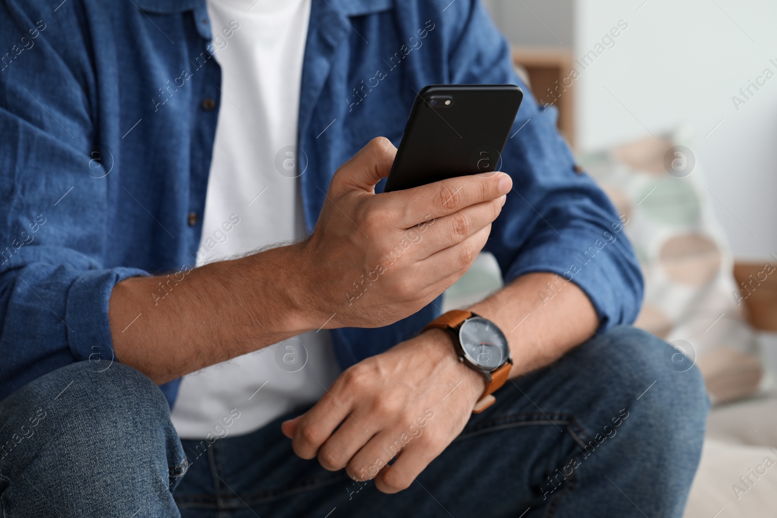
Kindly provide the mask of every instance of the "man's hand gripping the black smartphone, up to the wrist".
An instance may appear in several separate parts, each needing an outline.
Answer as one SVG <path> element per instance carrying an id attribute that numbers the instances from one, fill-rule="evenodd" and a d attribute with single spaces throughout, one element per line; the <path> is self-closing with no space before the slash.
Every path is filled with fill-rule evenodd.
<path id="1" fill-rule="evenodd" d="M 396 148 L 378 137 L 337 169 L 313 234 L 294 245 L 301 308 L 327 329 L 413 315 L 472 265 L 512 187 L 503 172 L 375 194 Z"/>

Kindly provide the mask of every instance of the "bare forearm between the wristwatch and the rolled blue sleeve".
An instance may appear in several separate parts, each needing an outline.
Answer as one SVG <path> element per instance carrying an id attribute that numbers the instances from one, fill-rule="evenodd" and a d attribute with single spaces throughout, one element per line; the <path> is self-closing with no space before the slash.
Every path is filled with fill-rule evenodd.
<path id="1" fill-rule="evenodd" d="M 550 286 L 549 286 L 550 283 Z M 577 284 L 554 273 L 529 273 L 469 308 L 507 336 L 510 377 L 545 367 L 594 335 L 594 306 Z"/>

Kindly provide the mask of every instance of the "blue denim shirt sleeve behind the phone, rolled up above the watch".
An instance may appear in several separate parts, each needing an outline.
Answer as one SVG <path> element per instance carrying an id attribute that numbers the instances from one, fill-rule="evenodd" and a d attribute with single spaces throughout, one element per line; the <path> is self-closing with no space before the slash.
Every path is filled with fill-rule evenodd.
<path id="1" fill-rule="evenodd" d="M 643 279 L 623 231 L 628 217 L 617 214 L 605 193 L 576 167 L 556 130 L 556 109 L 538 106 L 522 84 L 510 46 L 481 2 L 456 2 L 450 9 L 458 10 L 459 20 L 458 26 L 451 24 L 458 34 L 451 37 L 448 52 L 450 82 L 513 83 L 524 90 L 501 165 L 512 176 L 514 189 L 493 224 L 486 250 L 497 258 L 505 282 L 525 273 L 550 272 L 563 276 L 560 285 L 576 283 L 597 311 L 600 332 L 634 322 Z M 565 95 L 563 85 L 557 95 Z"/>

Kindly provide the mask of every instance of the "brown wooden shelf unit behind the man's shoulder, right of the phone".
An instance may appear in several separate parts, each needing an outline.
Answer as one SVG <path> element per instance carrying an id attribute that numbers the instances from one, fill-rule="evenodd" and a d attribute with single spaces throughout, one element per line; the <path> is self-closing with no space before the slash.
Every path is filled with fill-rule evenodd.
<path id="1" fill-rule="evenodd" d="M 574 82 L 572 50 L 564 47 L 514 47 L 513 62 L 528 75 L 531 92 L 540 104 L 559 110 L 558 127 L 574 148 Z"/>

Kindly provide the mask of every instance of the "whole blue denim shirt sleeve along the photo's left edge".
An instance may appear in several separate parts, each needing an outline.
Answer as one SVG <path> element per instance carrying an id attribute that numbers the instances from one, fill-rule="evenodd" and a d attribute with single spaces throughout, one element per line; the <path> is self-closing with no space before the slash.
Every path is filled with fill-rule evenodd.
<path id="1" fill-rule="evenodd" d="M 33 14 L 0 8 L 13 54 L 0 71 L 0 398 L 74 361 L 109 364 L 111 290 L 147 275 L 103 264 L 112 187 L 93 144 L 89 56 Z"/>

